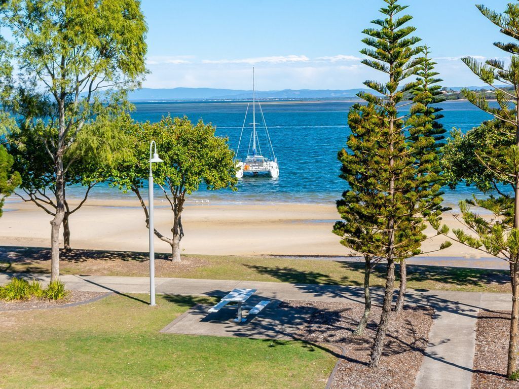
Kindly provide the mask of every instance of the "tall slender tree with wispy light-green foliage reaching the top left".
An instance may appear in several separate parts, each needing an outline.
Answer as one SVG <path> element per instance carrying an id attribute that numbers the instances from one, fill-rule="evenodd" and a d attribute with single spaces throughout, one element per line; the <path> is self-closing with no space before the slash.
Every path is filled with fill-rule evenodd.
<path id="1" fill-rule="evenodd" d="M 49 142 L 52 136 L 41 139 L 54 165 L 53 281 L 59 276 L 59 233 L 66 210 L 65 155 L 85 124 L 120 109 L 126 91 L 139 86 L 147 27 L 138 0 L 6 0 L 1 7 L 21 73 L 20 93 L 4 106 L 35 131 L 44 123 L 57 133 L 57 142 Z M 32 109 L 17 112 L 21 94 L 48 99 L 47 116 Z"/>

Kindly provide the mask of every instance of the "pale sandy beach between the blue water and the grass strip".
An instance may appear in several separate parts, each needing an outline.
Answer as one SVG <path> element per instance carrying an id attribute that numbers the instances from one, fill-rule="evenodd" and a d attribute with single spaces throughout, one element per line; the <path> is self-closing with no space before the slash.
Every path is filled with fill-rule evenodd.
<path id="1" fill-rule="evenodd" d="M 348 256 L 332 232 L 337 219 L 334 204 L 196 204 L 185 207 L 183 253 L 206 255 L 293 255 Z M 0 245 L 48 247 L 51 217 L 33 203 L 11 198 L 0 218 Z M 156 228 L 167 234 L 171 211 L 156 202 Z M 452 214 L 444 221 L 457 226 Z M 458 225 L 459 227 L 459 225 Z M 71 216 L 71 243 L 74 248 L 121 251 L 147 251 L 148 233 L 144 212 L 133 200 L 89 200 Z M 434 231 L 426 231 L 434 236 Z M 444 240 L 427 240 L 423 251 L 432 251 Z M 156 239 L 157 252 L 169 252 L 169 245 Z M 427 255 L 426 255 L 427 256 Z M 475 249 L 454 243 L 429 254 L 478 259 L 485 257 Z M 470 262 L 470 261 L 469 261 Z"/>

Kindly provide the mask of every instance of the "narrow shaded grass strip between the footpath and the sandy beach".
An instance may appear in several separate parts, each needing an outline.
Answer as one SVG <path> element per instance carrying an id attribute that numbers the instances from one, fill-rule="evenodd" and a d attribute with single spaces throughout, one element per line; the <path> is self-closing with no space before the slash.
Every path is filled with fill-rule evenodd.
<path id="1" fill-rule="evenodd" d="M 49 250 L 5 247 L 0 271 L 48 273 Z M 62 274 L 147 276 L 147 253 L 76 250 L 63 253 Z M 170 262 L 167 254 L 156 255 L 157 277 L 208 280 L 242 280 L 360 286 L 363 262 L 297 259 L 284 257 L 182 256 L 184 263 Z M 1 262 L 1 261 L 0 261 Z M 509 292 L 510 276 L 505 270 L 408 265 L 407 285 L 413 289 Z M 382 286 L 385 265 L 373 271 L 372 285 Z M 397 266 L 398 281 L 398 266 Z M 398 284 L 397 284 L 398 285 Z"/>

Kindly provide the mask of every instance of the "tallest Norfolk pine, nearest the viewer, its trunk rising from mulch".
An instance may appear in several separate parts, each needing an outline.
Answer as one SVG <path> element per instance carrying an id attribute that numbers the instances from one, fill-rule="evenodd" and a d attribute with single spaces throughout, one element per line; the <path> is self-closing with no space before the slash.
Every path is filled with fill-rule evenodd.
<path id="1" fill-rule="evenodd" d="M 374 141 L 370 160 L 374 170 L 359 172 L 361 175 L 368 176 L 363 180 L 373 190 L 372 196 L 367 197 L 370 200 L 370 204 L 367 206 L 371 210 L 365 212 L 362 218 L 367 219 L 369 228 L 380 232 L 377 235 L 370 233 L 363 236 L 376 236 L 377 239 L 381 239 L 380 245 L 384 247 L 384 258 L 388 262 L 383 312 L 370 362 L 373 367 L 379 364 L 390 319 L 395 261 L 420 252 L 421 241 L 427 237 L 422 233 L 425 228 L 424 220 L 417 214 L 421 211 L 426 212 L 427 209 L 433 211 L 437 207 L 437 205 L 432 205 L 433 201 L 430 198 L 432 192 L 437 193 L 439 190 L 438 184 L 432 184 L 426 191 L 414 188 L 416 146 L 419 141 L 415 140 L 415 148 L 410 147 L 409 142 L 413 142 L 412 136 L 407 136 L 404 132 L 405 121 L 413 114 L 400 115 L 398 113 L 398 109 L 413 104 L 403 102 L 404 94 L 418 90 L 420 82 L 410 82 L 405 85 L 401 85 L 401 82 L 418 71 L 417 66 L 424 59 L 416 58 L 416 56 L 423 48 L 416 46 L 419 38 L 409 37 L 415 31 L 414 27 L 403 27 L 412 17 L 396 17 L 406 7 L 400 6 L 395 0 L 385 0 L 385 2 L 388 6 L 380 11 L 386 16 L 386 19 L 373 21 L 374 24 L 381 27 L 380 30 L 363 31 L 369 36 L 363 39 L 363 42 L 371 48 L 363 49 L 361 53 L 370 57 L 362 62 L 386 73 L 389 81 L 386 84 L 375 81 L 365 82 L 366 86 L 383 95 L 383 98 L 370 93 L 359 93 L 359 97 L 366 100 L 368 105 L 376 107 L 373 112 L 378 113 L 381 123 L 377 129 L 377 140 Z M 422 112 L 422 109 L 417 109 L 414 114 L 417 112 Z M 420 147 L 425 149 L 423 146 Z M 374 150 L 376 152 L 373 152 Z M 360 169 L 365 168 L 361 166 Z M 434 175 L 434 172 L 432 173 Z M 434 182 L 434 179 L 428 179 Z M 432 187 L 435 189 L 431 190 Z M 437 202 L 439 199 L 435 201 Z M 422 207 L 422 210 L 418 212 L 413 209 L 410 212 L 409 207 L 412 204 Z M 434 211 L 435 214 L 439 212 L 439 210 Z M 446 245 L 448 243 L 443 247 Z"/>

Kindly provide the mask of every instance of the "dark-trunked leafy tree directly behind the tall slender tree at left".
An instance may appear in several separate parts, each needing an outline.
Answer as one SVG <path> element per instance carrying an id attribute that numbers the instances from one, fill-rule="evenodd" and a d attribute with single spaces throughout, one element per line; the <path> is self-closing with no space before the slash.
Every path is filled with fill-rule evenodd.
<path id="1" fill-rule="evenodd" d="M 107 180 L 110 165 L 127 152 L 126 137 L 118 131 L 118 118 L 97 120 L 85 124 L 76 135 L 76 142 L 66 150 L 64 162 L 65 186 L 81 185 L 85 188 L 83 197 L 72 206 L 64 197 L 63 245 L 65 251 L 71 249 L 70 216 L 85 204 L 90 190 Z M 108 127 L 117 130 L 107 131 Z M 48 215 L 56 216 L 56 171 L 53 160 L 47 153 L 45 143 L 56 144 L 56 127 L 25 126 L 10 136 L 10 151 L 15 157 L 15 169 L 21 172 L 21 183 L 16 194 L 24 201 L 31 201 Z M 42 142 L 45 140 L 45 143 Z"/>

